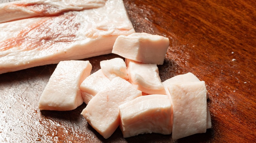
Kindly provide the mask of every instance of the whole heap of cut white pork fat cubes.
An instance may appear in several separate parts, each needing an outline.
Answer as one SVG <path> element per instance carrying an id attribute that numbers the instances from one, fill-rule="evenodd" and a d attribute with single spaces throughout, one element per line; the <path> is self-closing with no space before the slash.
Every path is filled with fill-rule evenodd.
<path id="1" fill-rule="evenodd" d="M 157 65 L 164 62 L 169 39 L 148 33 L 119 36 L 112 53 L 125 58 L 100 62 L 91 74 L 89 61 L 61 61 L 40 99 L 40 110 L 73 110 L 104 138 L 119 126 L 124 137 L 172 133 L 173 139 L 211 128 L 207 90 L 191 72 L 161 82 Z"/>

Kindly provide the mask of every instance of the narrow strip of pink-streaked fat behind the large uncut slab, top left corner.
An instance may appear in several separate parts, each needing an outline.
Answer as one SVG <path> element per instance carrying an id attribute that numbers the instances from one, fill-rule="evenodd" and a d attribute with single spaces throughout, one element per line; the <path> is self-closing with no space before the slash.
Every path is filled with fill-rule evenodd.
<path id="1" fill-rule="evenodd" d="M 106 0 L 21 0 L 0 4 L 0 23 L 70 10 L 99 8 Z"/>

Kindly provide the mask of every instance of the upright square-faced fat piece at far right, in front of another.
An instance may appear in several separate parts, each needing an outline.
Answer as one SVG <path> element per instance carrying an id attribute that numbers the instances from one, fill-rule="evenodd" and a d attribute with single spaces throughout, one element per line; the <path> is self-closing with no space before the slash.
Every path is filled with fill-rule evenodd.
<path id="1" fill-rule="evenodd" d="M 173 106 L 172 138 L 205 133 L 207 124 L 204 81 L 168 86 Z"/>

